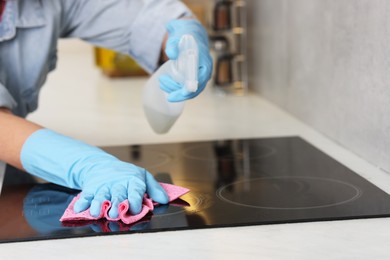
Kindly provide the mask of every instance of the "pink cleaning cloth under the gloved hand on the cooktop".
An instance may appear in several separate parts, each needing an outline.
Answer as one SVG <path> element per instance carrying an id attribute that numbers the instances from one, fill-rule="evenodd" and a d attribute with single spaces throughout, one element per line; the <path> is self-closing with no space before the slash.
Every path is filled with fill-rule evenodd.
<path id="1" fill-rule="evenodd" d="M 186 194 L 187 192 L 189 192 L 189 189 L 180 186 L 175 186 L 167 183 L 160 183 L 160 184 L 163 187 L 163 189 L 167 192 L 169 197 L 169 202 L 174 201 L 179 197 L 183 196 L 184 194 Z M 157 203 L 153 202 L 150 198 L 148 198 L 145 195 L 142 202 L 141 212 L 137 215 L 131 215 L 129 212 L 129 201 L 125 200 L 122 203 L 120 203 L 118 206 L 118 212 L 119 212 L 118 218 L 113 219 L 108 216 L 108 211 L 111 208 L 111 202 L 108 200 L 103 202 L 98 217 L 91 216 L 91 214 L 89 213 L 89 209 L 82 211 L 80 213 L 75 213 L 73 207 L 79 198 L 80 198 L 80 194 L 78 194 L 71 201 L 71 203 L 65 210 L 64 214 L 62 215 L 60 221 L 64 222 L 64 221 L 77 221 L 77 220 L 98 220 L 101 218 L 106 218 L 107 220 L 110 221 L 122 220 L 122 222 L 125 224 L 132 224 L 141 220 L 146 214 L 153 211 L 154 205 L 157 205 Z"/>

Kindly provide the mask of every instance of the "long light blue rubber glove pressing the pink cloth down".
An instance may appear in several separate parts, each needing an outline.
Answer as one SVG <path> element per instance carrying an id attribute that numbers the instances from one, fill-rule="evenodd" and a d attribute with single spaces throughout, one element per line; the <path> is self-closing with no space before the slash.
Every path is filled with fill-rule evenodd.
<path id="1" fill-rule="evenodd" d="M 110 200 L 109 216 L 116 218 L 119 203 L 128 199 L 131 213 L 138 214 L 145 193 L 158 203 L 168 203 L 164 189 L 145 169 L 48 129 L 38 130 L 26 140 L 21 162 L 37 177 L 81 189 L 74 206 L 77 213 L 90 208 L 91 215 L 97 217 L 102 203 Z"/>

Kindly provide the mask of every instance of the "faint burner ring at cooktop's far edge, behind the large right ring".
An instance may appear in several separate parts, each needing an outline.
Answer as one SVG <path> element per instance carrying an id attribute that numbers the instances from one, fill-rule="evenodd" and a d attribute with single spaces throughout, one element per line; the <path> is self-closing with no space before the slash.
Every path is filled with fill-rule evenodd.
<path id="1" fill-rule="evenodd" d="M 216 144 L 216 147 L 218 144 Z M 250 152 L 250 148 L 254 148 L 255 152 Z M 209 152 L 207 152 L 209 151 Z M 230 154 L 224 154 L 218 158 L 214 151 L 210 151 L 210 145 L 200 144 L 184 149 L 183 155 L 189 159 L 214 161 L 218 159 L 226 160 L 257 160 L 269 157 L 277 153 L 277 150 L 271 146 L 258 144 L 243 144 L 242 151 L 230 151 Z"/>

